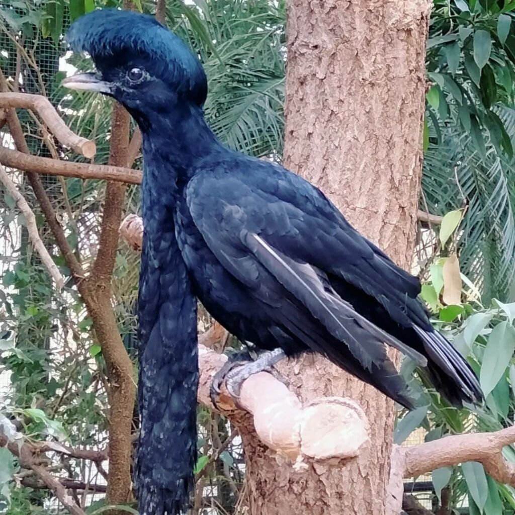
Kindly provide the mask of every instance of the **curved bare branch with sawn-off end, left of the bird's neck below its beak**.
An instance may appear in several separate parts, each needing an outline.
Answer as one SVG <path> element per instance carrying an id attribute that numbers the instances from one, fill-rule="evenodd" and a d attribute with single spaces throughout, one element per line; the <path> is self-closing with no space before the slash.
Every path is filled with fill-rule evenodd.
<path id="1" fill-rule="evenodd" d="M 95 143 L 81 138 L 68 129 L 54 106 L 44 96 L 28 93 L 2 93 L 0 94 L 0 108 L 30 109 L 41 116 L 43 122 L 61 144 L 88 159 L 91 159 L 96 153 Z"/>

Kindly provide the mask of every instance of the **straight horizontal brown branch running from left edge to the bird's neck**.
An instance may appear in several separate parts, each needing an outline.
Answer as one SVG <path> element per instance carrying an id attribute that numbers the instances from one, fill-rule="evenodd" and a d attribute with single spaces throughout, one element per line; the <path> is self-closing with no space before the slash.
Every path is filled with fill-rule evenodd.
<path id="1" fill-rule="evenodd" d="M 140 170 L 132 170 L 121 166 L 74 163 L 58 161 L 51 158 L 31 156 L 28 153 L 0 147 L 0 163 L 10 168 L 33 172 L 36 174 L 62 175 L 79 179 L 103 179 L 108 181 L 140 184 Z"/>

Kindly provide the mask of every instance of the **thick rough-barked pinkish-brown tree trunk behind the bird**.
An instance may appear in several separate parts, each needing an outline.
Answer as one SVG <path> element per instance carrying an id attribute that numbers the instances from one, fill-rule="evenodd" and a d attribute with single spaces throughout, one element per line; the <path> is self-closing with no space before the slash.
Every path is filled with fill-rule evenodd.
<path id="1" fill-rule="evenodd" d="M 405 268 L 415 241 L 432 0 L 290 0 L 285 165 Z M 251 513 L 385 513 L 393 402 L 321 358 L 281 369 L 304 401 L 356 400 L 370 445 L 348 465 L 280 464 L 244 436 Z M 300 388 L 302 387 L 302 388 Z M 390 515 L 390 514 L 388 514 Z"/>

